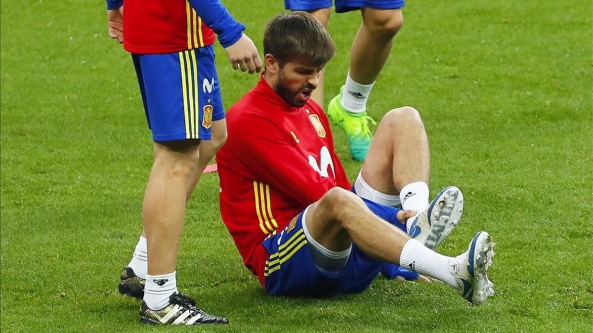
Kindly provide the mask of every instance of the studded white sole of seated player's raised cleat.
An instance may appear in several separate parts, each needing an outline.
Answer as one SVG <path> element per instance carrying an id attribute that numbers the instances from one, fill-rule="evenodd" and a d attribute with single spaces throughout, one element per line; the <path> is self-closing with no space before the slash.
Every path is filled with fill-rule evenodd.
<path id="1" fill-rule="evenodd" d="M 428 207 L 428 220 L 431 225 L 430 234 L 424 245 L 436 249 L 455 229 L 463 214 L 463 193 L 455 186 L 449 186 L 432 200 Z"/>

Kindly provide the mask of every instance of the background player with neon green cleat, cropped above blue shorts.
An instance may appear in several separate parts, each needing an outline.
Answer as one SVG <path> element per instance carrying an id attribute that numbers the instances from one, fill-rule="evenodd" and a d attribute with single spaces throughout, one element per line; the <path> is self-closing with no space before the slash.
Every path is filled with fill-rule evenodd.
<path id="1" fill-rule="evenodd" d="M 331 0 L 285 0 L 285 8 L 307 11 L 324 27 L 330 17 Z M 374 123 L 366 113 L 366 101 L 375 79 L 387 62 L 393 37 L 403 24 L 403 0 L 336 0 L 336 12 L 360 9 L 362 24 L 350 49 L 350 69 L 340 93 L 328 107 L 327 116 L 342 128 L 348 137 L 352 157 L 364 161 L 372 141 L 369 123 Z M 323 105 L 323 72 L 320 85 L 313 92 L 313 100 Z"/>

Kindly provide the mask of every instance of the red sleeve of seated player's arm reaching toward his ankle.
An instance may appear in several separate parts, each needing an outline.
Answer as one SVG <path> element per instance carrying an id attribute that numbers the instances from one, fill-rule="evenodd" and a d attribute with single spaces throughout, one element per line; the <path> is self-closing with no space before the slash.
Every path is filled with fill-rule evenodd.
<path id="1" fill-rule="evenodd" d="M 241 142 L 229 145 L 227 141 L 227 148 L 231 148 L 229 153 L 235 155 L 260 181 L 303 204 L 319 200 L 330 188 L 336 187 L 334 180 L 321 177 L 286 142 L 282 131 L 272 120 L 251 114 L 248 121 L 237 121 L 233 127 L 229 128 L 229 133 L 240 137 Z M 336 161 L 333 162 L 336 165 Z M 342 168 L 341 164 L 339 166 Z"/>

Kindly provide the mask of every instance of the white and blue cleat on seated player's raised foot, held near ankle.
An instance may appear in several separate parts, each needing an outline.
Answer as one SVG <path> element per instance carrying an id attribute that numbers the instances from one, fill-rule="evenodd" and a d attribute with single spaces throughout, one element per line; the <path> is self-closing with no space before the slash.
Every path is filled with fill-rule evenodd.
<path id="1" fill-rule="evenodd" d="M 408 235 L 436 249 L 457 226 L 463 214 L 463 193 L 455 186 L 442 190 L 410 226 Z"/>

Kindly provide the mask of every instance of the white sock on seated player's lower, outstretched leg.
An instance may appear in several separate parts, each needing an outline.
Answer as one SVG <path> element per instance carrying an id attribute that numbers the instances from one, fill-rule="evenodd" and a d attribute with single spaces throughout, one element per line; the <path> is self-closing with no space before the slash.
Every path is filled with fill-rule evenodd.
<path id="1" fill-rule="evenodd" d="M 422 245 L 416 239 L 409 239 L 401 249 L 400 266 L 425 276 L 441 280 L 449 286 L 459 289 L 452 274 L 451 264 L 454 257 L 445 257 Z"/>

